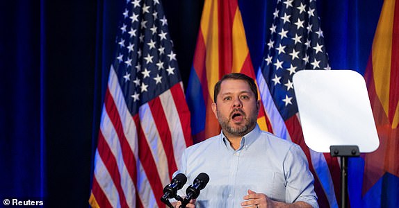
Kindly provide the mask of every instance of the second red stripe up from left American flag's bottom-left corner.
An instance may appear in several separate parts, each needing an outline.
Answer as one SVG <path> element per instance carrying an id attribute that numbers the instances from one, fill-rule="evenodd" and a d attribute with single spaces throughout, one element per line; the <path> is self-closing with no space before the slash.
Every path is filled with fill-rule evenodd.
<path id="1" fill-rule="evenodd" d="M 108 173 L 111 175 L 113 184 L 115 185 L 117 189 L 117 193 L 119 195 L 120 199 L 120 205 L 122 207 L 127 207 L 127 201 L 124 196 L 124 192 L 121 186 L 121 180 L 120 180 L 120 172 L 117 168 L 117 162 L 115 159 L 115 156 L 113 155 L 111 148 L 108 146 L 108 144 L 105 141 L 104 135 L 102 135 L 101 130 L 99 131 L 99 141 L 98 141 L 98 146 L 97 146 L 99 155 L 104 162 L 104 165 L 106 166 Z"/>

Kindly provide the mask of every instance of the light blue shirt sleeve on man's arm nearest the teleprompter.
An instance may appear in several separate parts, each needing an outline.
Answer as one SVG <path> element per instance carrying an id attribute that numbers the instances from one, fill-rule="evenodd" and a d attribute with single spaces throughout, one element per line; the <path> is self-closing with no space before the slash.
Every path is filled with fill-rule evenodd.
<path id="1" fill-rule="evenodd" d="M 300 146 L 293 144 L 284 159 L 286 175 L 286 202 L 307 202 L 318 207 L 314 191 L 314 177 L 309 171 L 307 158 Z"/>

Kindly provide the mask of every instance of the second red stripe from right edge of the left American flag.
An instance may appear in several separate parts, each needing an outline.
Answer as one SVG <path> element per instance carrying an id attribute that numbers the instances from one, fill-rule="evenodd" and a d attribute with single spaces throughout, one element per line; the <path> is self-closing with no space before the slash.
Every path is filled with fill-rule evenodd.
<path id="1" fill-rule="evenodd" d="M 163 150 L 165 150 L 166 158 L 168 159 L 169 177 L 172 178 L 174 171 L 177 170 L 177 165 L 174 159 L 172 135 L 169 130 L 168 120 L 166 120 L 165 112 L 159 97 L 152 99 L 148 102 L 151 108 L 152 116 L 154 117 L 154 123 L 158 134 L 161 137 L 163 144 Z"/>

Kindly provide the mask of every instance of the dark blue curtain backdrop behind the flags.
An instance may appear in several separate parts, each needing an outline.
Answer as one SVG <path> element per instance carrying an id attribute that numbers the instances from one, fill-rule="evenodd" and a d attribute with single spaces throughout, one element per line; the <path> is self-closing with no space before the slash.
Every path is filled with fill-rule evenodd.
<path id="1" fill-rule="evenodd" d="M 1 202 L 36 198 L 47 207 L 88 205 L 101 103 L 124 2 L 0 2 Z M 238 2 L 257 69 L 276 2 Z M 202 0 L 163 1 L 185 87 L 202 5 Z M 381 8 L 382 0 L 318 1 L 332 69 L 364 72 Z M 350 189 L 358 182 L 350 178 Z M 352 207 L 359 206 L 351 197 Z"/>

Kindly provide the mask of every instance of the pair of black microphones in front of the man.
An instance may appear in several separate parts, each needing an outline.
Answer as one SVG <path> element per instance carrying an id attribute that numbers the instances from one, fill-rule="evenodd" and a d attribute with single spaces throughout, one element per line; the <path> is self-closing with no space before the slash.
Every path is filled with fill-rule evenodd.
<path id="1" fill-rule="evenodd" d="M 187 182 L 187 177 L 183 173 L 177 174 L 170 184 L 168 184 L 165 188 L 163 188 L 163 196 L 161 201 L 168 205 L 168 207 L 173 207 L 170 204 L 169 199 L 174 198 L 181 202 L 181 207 L 186 207 L 188 202 L 192 199 L 196 199 L 199 196 L 199 193 L 202 189 L 205 188 L 206 184 L 209 182 L 209 175 L 206 173 L 199 173 L 193 184 L 190 185 L 186 189 L 186 196 L 181 198 L 181 196 L 177 195 L 177 190 L 183 188 L 184 184 Z"/>

